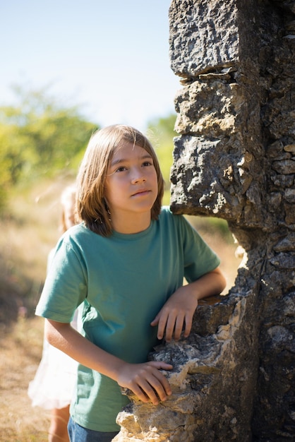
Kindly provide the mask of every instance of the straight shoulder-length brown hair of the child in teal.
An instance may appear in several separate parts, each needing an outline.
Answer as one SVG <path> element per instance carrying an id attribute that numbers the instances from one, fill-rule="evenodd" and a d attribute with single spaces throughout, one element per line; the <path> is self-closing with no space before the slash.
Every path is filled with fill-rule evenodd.
<path id="1" fill-rule="evenodd" d="M 152 157 L 157 172 L 158 194 L 151 210 L 152 220 L 157 220 L 162 205 L 164 179 L 155 150 L 143 133 L 131 126 L 116 124 L 96 131 L 88 143 L 77 176 L 77 214 L 87 227 L 103 237 L 112 234 L 107 203 L 104 199 L 107 168 L 117 148 L 132 143 L 145 149 Z"/>

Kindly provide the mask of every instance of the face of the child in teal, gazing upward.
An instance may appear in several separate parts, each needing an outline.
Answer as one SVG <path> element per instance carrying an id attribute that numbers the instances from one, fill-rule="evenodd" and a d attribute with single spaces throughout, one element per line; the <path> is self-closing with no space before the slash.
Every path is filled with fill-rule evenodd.
<path id="1" fill-rule="evenodd" d="M 138 145 L 124 143 L 107 169 L 105 199 L 111 219 L 148 215 L 157 199 L 157 172 L 150 154 Z"/>

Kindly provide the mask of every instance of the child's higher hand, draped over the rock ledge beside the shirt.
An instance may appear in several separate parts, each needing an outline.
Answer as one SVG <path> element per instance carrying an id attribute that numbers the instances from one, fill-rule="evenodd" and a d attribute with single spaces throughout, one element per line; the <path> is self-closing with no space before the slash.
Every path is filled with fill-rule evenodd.
<path id="1" fill-rule="evenodd" d="M 183 325 L 185 325 L 184 337 L 187 338 L 191 333 L 193 313 L 198 306 L 198 299 L 188 287 L 189 285 L 186 285 L 177 289 L 150 323 L 152 326 L 158 326 L 159 340 L 165 337 L 166 342 L 170 342 L 173 335 L 175 340 L 179 340 Z"/>

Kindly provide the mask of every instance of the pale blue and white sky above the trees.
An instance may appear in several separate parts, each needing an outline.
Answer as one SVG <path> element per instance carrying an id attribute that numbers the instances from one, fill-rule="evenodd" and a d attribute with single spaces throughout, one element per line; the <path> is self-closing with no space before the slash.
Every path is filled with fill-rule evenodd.
<path id="1" fill-rule="evenodd" d="M 170 0 L 0 1 L 0 105 L 11 85 L 49 90 L 101 126 L 144 130 L 174 112 Z"/>

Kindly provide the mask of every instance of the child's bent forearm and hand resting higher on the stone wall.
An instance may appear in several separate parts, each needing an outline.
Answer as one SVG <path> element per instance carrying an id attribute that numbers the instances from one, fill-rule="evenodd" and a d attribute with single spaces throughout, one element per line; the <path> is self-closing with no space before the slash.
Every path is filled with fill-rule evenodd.
<path id="1" fill-rule="evenodd" d="M 172 338 L 179 340 L 183 325 L 185 325 L 183 336 L 187 338 L 191 333 L 193 313 L 195 313 L 199 299 L 221 293 L 225 285 L 224 275 L 217 267 L 198 280 L 179 287 L 151 323 L 152 326 L 158 326 L 157 338 L 165 337 L 166 342 L 171 341 Z"/>

